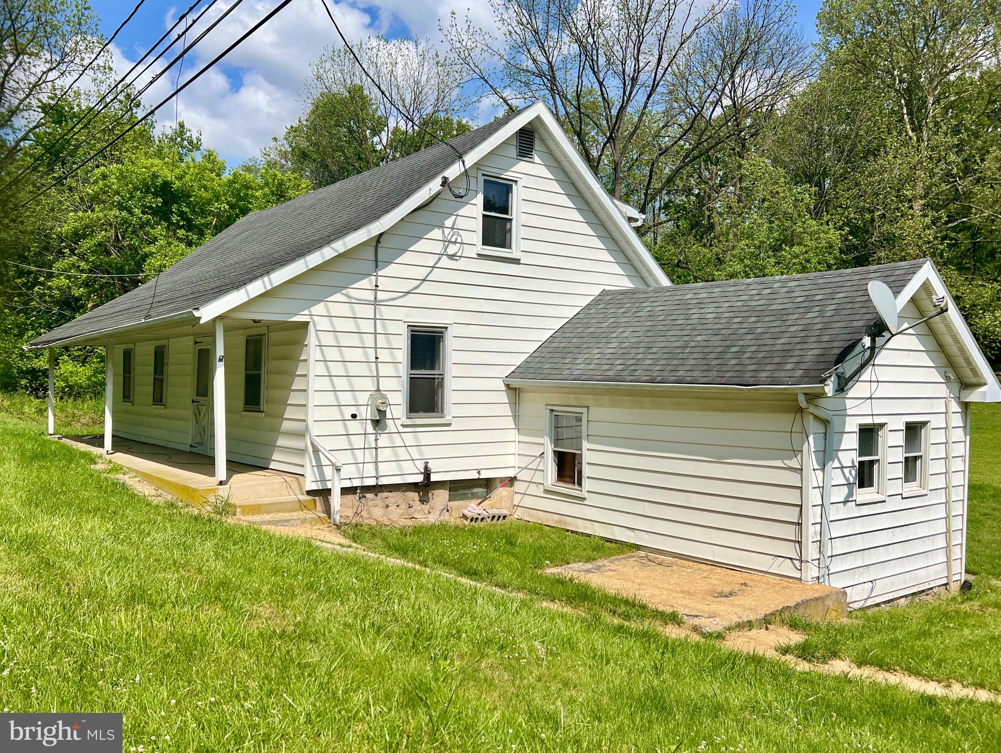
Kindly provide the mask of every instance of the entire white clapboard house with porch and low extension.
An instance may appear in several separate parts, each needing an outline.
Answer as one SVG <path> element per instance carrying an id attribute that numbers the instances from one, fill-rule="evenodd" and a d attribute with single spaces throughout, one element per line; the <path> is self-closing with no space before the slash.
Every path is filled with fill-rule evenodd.
<path id="1" fill-rule="evenodd" d="M 528 465 L 524 518 L 856 604 L 946 581 L 951 507 L 958 578 L 965 405 L 1001 391 L 931 262 L 670 286 L 641 220 L 536 104 L 254 212 L 28 346 L 105 348 L 108 451 L 302 474 L 334 518 L 341 486 Z M 869 278 L 907 320 L 949 304 L 839 385 Z"/>

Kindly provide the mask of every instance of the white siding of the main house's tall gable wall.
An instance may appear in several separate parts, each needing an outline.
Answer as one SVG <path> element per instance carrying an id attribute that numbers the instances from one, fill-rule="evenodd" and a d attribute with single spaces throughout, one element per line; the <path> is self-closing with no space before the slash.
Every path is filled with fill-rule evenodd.
<path id="1" fill-rule="evenodd" d="M 514 137 L 469 165 L 462 199 L 442 191 L 381 236 L 377 316 L 374 241 L 351 248 L 241 304 L 227 316 L 311 322 L 313 435 L 343 466 L 345 486 L 506 477 L 515 470 L 514 391 L 507 376 L 605 288 L 644 285 L 626 253 L 537 138 L 536 159 L 516 157 Z M 521 181 L 521 257 L 476 252 L 478 169 Z M 464 185 L 458 178 L 455 185 Z M 451 325 L 451 420 L 402 421 L 406 323 Z M 379 389 L 390 416 L 365 420 Z M 354 418 L 351 418 L 352 415 Z M 304 430 L 303 430 L 304 431 Z M 241 441 L 254 441 L 252 437 Z M 329 466 L 311 461 L 317 485 Z M 302 458 L 299 459 L 301 470 Z"/>

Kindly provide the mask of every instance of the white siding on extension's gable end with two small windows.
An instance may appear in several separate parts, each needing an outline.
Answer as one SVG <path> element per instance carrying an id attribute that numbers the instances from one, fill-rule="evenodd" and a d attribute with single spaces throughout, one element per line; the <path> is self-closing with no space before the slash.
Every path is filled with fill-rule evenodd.
<path id="1" fill-rule="evenodd" d="M 913 302 L 901 311 L 904 322 L 921 318 Z M 951 374 L 952 437 L 946 438 L 945 373 Z M 966 500 L 965 406 L 959 403 L 956 371 L 927 324 L 892 338 L 843 396 L 816 401 L 834 413 L 835 447 L 829 527 L 831 584 L 847 589 L 853 607 L 877 604 L 946 583 L 945 457 L 953 466 L 953 562 L 962 572 Z M 928 486 L 903 489 L 904 424 L 927 422 Z M 886 497 L 859 501 L 856 494 L 858 427 L 886 425 Z M 814 425 L 814 464 L 824 463 L 824 431 Z M 820 470 L 813 475 L 811 553 L 816 570 L 821 535 Z"/>

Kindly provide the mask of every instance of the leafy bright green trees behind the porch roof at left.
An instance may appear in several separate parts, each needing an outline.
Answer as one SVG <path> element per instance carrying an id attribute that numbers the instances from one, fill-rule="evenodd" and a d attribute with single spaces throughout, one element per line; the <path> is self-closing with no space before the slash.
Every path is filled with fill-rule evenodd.
<path id="1" fill-rule="evenodd" d="M 48 128 L 39 144 L 58 126 Z M 243 215 L 309 189 L 296 173 L 268 165 L 227 172 L 183 123 L 158 136 L 144 123 L 120 143 L 96 169 L 14 218 L 28 231 L 8 243 L 15 263 L 0 269 L 0 389 L 44 389 L 44 355 L 25 353 L 26 340 L 151 279 Z M 101 368 L 92 353 L 70 349 L 60 358 L 60 388 L 87 392 L 101 383 Z"/>

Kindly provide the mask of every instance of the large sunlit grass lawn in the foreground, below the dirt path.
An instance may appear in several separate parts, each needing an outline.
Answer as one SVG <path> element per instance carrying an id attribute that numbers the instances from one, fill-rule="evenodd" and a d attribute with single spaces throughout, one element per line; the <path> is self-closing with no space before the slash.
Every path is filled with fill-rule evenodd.
<path id="1" fill-rule="evenodd" d="M 0 419 L 0 706 L 125 750 L 996 750 L 997 704 L 672 640 L 157 506 Z M 705 743 L 703 743 L 705 741 Z"/>

